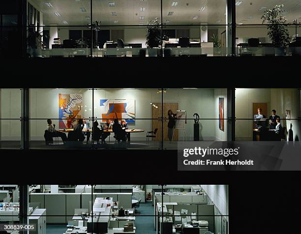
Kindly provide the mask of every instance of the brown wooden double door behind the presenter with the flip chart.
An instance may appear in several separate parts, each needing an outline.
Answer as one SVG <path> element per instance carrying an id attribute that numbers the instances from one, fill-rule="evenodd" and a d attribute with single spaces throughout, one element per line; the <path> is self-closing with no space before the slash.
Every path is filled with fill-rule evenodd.
<path id="1" fill-rule="evenodd" d="M 156 139 L 154 139 L 155 141 L 161 141 L 162 139 L 162 128 L 161 128 L 161 120 L 157 119 L 160 118 L 162 115 L 162 105 L 160 102 L 155 102 L 152 103 L 154 106 L 152 106 L 151 109 L 151 117 L 152 118 L 156 118 L 156 119 L 152 119 L 151 121 L 151 126 L 152 126 L 152 130 L 158 128 L 157 131 L 157 137 Z M 167 123 L 168 123 L 168 110 L 172 110 L 173 113 L 177 113 L 177 110 L 179 106 L 179 103 L 175 103 L 175 102 L 166 102 L 163 103 L 163 141 L 169 141 L 168 139 L 168 129 L 167 129 Z M 173 141 L 178 141 L 178 129 L 175 129 L 175 133 L 174 133 L 174 138 Z"/>

